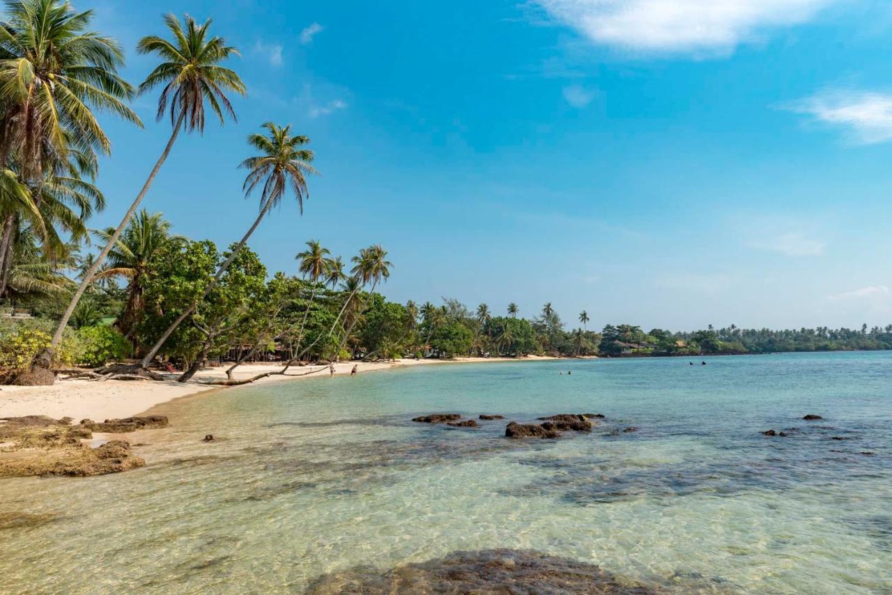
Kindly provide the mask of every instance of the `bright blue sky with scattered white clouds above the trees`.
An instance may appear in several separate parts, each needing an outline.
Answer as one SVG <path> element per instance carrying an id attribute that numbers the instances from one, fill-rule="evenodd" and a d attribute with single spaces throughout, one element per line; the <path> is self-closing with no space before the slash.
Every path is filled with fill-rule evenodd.
<path id="1" fill-rule="evenodd" d="M 382 244 L 381 291 L 568 324 L 892 322 L 892 5 L 877 0 L 77 0 L 128 53 L 189 12 L 241 51 L 237 123 L 181 137 L 145 199 L 225 245 L 256 215 L 245 136 L 309 136 L 320 172 L 252 237 L 296 273 Z M 103 117 L 116 224 L 169 136 Z"/>

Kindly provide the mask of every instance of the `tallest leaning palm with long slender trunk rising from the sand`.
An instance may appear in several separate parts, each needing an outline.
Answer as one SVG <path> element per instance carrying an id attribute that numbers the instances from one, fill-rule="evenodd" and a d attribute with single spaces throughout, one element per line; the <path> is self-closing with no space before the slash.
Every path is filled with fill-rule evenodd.
<path id="1" fill-rule="evenodd" d="M 36 0 L 48 2 L 49 0 Z M 87 290 L 87 285 L 93 281 L 96 272 L 103 265 L 105 257 L 111 252 L 111 248 L 117 244 L 118 237 L 127 227 L 127 224 L 139 203 L 143 201 L 149 188 L 164 161 L 167 161 L 170 150 L 177 141 L 180 130 L 186 133 L 204 131 L 204 103 L 211 106 L 211 110 L 219 118 L 220 124 L 226 121 L 226 115 L 235 120 L 235 112 L 226 96 L 226 92 L 244 95 L 245 87 L 242 79 L 233 70 L 219 65 L 220 62 L 238 55 L 235 47 L 226 45 L 223 37 L 209 37 L 208 29 L 211 20 L 199 25 L 192 17 L 186 15 L 186 27 L 178 21 L 177 17 L 169 14 L 164 17 L 164 22 L 173 35 L 173 41 L 163 37 L 143 37 L 136 46 L 140 54 L 157 54 L 163 62 L 149 73 L 149 76 L 139 86 L 139 93 L 143 94 L 155 87 L 163 85 L 161 96 L 158 98 L 157 120 L 161 120 L 164 112 L 170 114 L 170 123 L 173 131 L 170 134 L 167 145 L 161 153 L 161 157 L 155 162 L 145 184 L 136 194 L 136 199 L 130 204 L 130 208 L 120 220 L 118 227 L 114 229 L 102 252 L 96 257 L 93 268 L 80 282 L 78 290 L 71 297 L 68 308 L 62 314 L 59 326 L 53 335 L 50 347 L 38 356 L 38 365 L 48 368 L 56 345 L 62 340 L 62 331 L 68 324 L 71 312 L 78 305 L 80 296 Z M 97 75 L 98 76 L 98 75 Z M 169 108 L 168 108 L 169 106 Z"/>

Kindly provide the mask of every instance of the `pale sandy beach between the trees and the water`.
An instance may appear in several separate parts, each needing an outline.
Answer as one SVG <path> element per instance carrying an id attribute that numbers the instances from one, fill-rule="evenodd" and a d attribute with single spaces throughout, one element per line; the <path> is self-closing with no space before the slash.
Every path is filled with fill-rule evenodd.
<path id="1" fill-rule="evenodd" d="M 524 359 L 513 358 L 458 358 L 458 359 L 401 359 L 396 363 L 359 362 L 359 373 L 407 366 L 446 365 L 471 362 L 496 361 L 541 361 L 542 358 L 529 356 Z M 335 364 L 335 374 L 350 374 L 354 362 Z M 235 369 L 235 379 L 250 378 L 280 369 L 281 364 L 250 364 Z M 225 379 L 227 367 L 204 368 L 193 380 L 186 384 L 174 381 L 152 382 L 139 380 L 62 380 L 53 386 L 3 386 L 0 387 L 0 417 L 21 417 L 27 415 L 45 415 L 56 419 L 72 417 L 79 421 L 84 418 L 102 421 L 115 417 L 130 417 L 153 408 L 155 405 L 172 401 L 179 397 L 203 391 L 225 389 L 226 387 L 202 384 L 211 379 Z M 308 374 L 313 372 L 312 374 Z M 292 376 L 293 375 L 293 376 Z M 255 384 L 271 382 L 291 382 L 308 378 L 325 377 L 326 366 L 304 366 L 291 368 L 288 376 L 270 376 L 262 378 Z M 235 388 L 235 387 L 234 387 Z"/>

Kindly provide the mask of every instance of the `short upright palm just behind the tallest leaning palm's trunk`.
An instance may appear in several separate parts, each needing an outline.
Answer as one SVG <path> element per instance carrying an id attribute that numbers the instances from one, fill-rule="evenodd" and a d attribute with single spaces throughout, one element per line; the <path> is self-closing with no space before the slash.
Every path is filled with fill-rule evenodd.
<path id="1" fill-rule="evenodd" d="M 136 217 L 130 219 L 124 233 L 109 252 L 108 266 L 95 277 L 97 280 L 114 277 L 128 279 L 127 302 L 115 326 L 118 326 L 122 335 L 130 339 L 134 348 L 136 348 L 134 331 L 145 309 L 143 292 L 145 278 L 149 272 L 149 262 L 155 252 L 171 239 L 169 229 L 169 221 L 162 219 L 160 212 L 150 214 L 145 209 L 139 211 Z M 97 237 L 106 242 L 112 234 L 114 229 L 111 227 L 95 232 Z M 91 263 L 91 266 L 94 263 Z"/>

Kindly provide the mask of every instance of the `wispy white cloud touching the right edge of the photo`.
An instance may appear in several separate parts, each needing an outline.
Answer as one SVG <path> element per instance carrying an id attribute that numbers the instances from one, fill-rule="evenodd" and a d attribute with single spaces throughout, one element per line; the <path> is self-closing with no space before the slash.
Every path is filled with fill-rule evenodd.
<path id="1" fill-rule="evenodd" d="M 855 145 L 875 145 L 892 140 L 892 95 L 831 89 L 780 107 L 843 128 L 847 140 Z"/>

